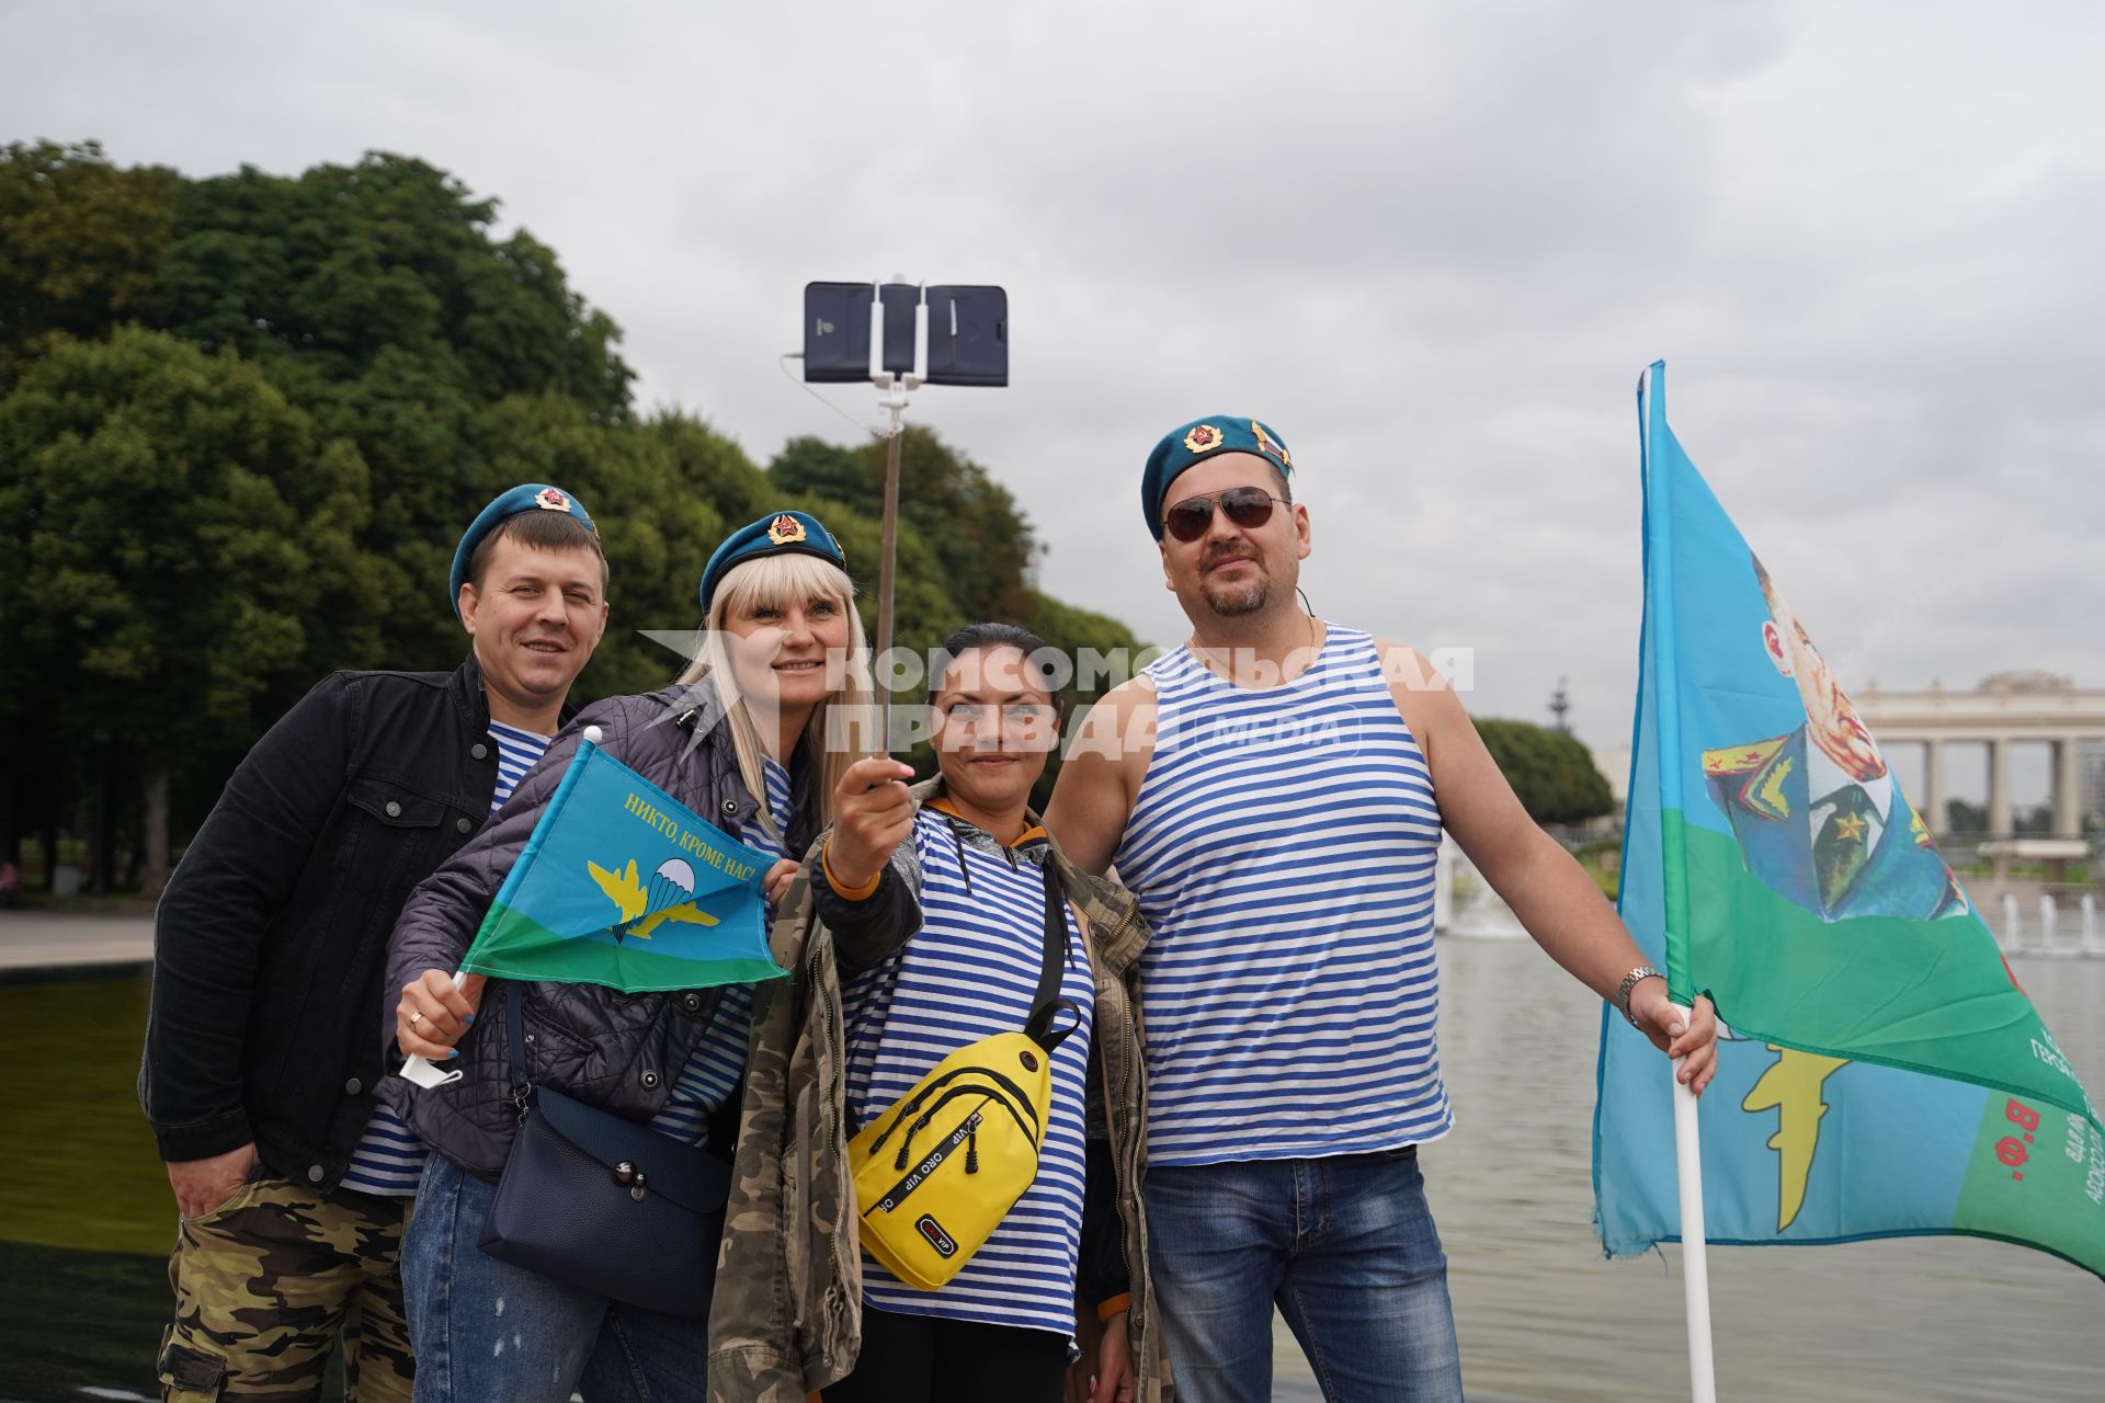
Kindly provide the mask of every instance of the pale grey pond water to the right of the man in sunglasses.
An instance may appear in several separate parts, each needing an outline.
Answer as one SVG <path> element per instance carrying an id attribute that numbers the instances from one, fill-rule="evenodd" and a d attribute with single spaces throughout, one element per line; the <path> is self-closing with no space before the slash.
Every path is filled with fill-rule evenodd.
<path id="1" fill-rule="evenodd" d="M 1686 1399 L 1680 1247 L 1608 1262 L 1591 1228 L 1600 1003 L 1526 938 L 1440 961 L 1457 1130 L 1423 1161 L 1471 1399 Z M 2010 963 L 2099 1094 L 2105 961 Z M 2105 1399 L 2105 1283 L 2044 1252 L 1716 1247 L 1709 1281 L 1720 1399 Z"/>

